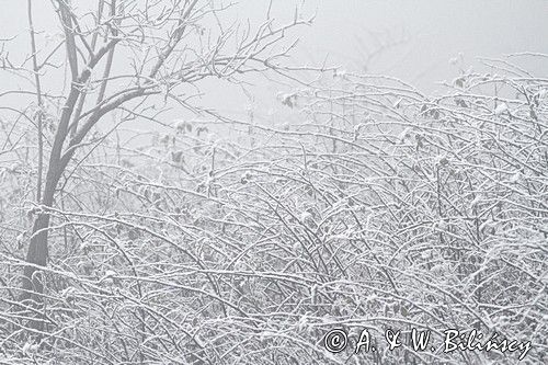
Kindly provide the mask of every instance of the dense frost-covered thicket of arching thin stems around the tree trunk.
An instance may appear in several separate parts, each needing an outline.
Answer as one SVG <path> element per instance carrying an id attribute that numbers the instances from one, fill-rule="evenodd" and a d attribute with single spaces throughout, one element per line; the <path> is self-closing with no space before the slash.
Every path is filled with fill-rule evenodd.
<path id="1" fill-rule="evenodd" d="M 545 363 L 548 79 L 488 64 L 436 96 L 389 77 L 324 76 L 283 96 L 297 123 L 202 114 L 162 121 L 149 144 L 95 136 L 52 206 L 35 202 L 35 126 L 2 118 L 0 153 L 16 158 L 0 162 L 0 362 L 517 358 L 407 344 L 328 353 L 323 335 L 343 327 L 379 343 L 387 328 L 498 332 L 532 341 L 523 364 Z M 55 130 L 57 115 L 39 113 Z M 44 214 L 33 305 L 21 282 Z"/>

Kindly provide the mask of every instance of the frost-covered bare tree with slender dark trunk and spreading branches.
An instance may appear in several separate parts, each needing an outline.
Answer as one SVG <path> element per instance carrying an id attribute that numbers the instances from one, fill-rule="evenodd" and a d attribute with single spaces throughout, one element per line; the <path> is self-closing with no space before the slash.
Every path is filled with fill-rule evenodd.
<path id="1" fill-rule="evenodd" d="M 105 115 L 132 103 L 144 110 L 153 104 L 151 95 L 162 94 L 185 109 L 189 92 L 185 85 L 197 87 L 201 80 L 220 78 L 239 82 L 242 73 L 275 70 L 284 72 L 278 59 L 292 44 L 277 47 L 290 27 L 309 21 L 297 16 L 287 25 L 276 26 L 266 19 L 256 31 L 239 24 L 224 24 L 217 16 L 230 5 L 215 1 L 122 1 L 100 0 L 91 3 L 53 1 L 62 39 L 53 49 L 38 49 L 33 25 L 32 1 L 27 1 L 32 65 L 14 67 L 3 59 L 4 70 L 33 76 L 37 128 L 36 209 L 24 269 L 23 299 L 43 293 L 39 267 L 48 256 L 48 227 L 59 181 L 78 150 L 98 144 L 101 137 L 89 138 L 90 132 Z M 210 27 L 207 27 L 212 25 Z M 277 50 L 276 50 L 277 49 Z M 62 52 L 64 50 L 64 52 Z M 118 55 L 118 56 L 116 56 Z M 115 65 L 116 57 L 127 57 Z M 44 91 L 42 78 L 54 72 L 55 60 L 66 59 L 67 94 L 58 104 Z M 58 72 L 57 72 L 58 75 Z M 158 101 L 158 99 L 157 99 Z M 44 148 L 45 105 L 58 105 L 55 134 L 50 148 Z M 129 114 L 138 115 L 138 111 Z M 48 153 L 43 175 L 43 156 Z M 34 299 L 38 297 L 34 296 Z"/>

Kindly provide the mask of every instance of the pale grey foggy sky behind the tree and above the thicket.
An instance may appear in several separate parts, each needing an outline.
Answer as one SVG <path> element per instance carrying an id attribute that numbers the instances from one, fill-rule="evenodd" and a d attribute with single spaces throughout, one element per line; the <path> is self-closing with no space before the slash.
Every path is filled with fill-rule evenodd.
<path id="1" fill-rule="evenodd" d="M 290 19 L 302 2 L 274 0 L 273 13 Z M 263 19 L 267 4 L 267 0 L 241 0 L 237 15 Z M 0 0 L 0 38 L 19 34 L 26 39 L 25 1 Z M 34 7 L 38 30 L 57 26 L 50 1 L 34 1 Z M 321 62 L 328 57 L 347 70 L 396 76 L 430 92 L 436 90 L 436 81 L 457 75 L 458 65 L 448 60 L 459 53 L 466 66 L 479 56 L 548 53 L 547 0 L 306 0 L 304 12 L 317 12 L 317 18 L 311 27 L 294 34 L 301 39 L 295 62 Z M 368 61 L 381 44 L 391 46 Z M 26 52 L 27 43 L 22 45 Z M 540 68 L 534 71 L 547 73 Z M 259 87 L 252 92 L 267 105 L 277 89 Z M 242 110 L 242 95 L 218 89 L 208 93 L 212 100 L 225 100 L 220 110 Z"/>

